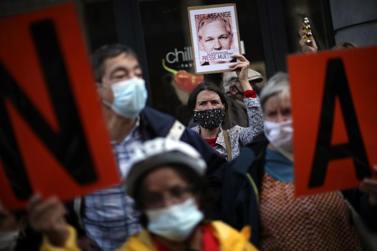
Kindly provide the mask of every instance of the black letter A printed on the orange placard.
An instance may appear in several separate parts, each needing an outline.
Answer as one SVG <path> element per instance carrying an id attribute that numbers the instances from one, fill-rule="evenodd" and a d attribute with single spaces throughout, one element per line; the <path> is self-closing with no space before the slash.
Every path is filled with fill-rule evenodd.
<path id="1" fill-rule="evenodd" d="M 331 146 L 331 135 L 334 129 L 335 96 L 339 96 L 349 142 Z M 309 188 L 323 185 L 329 161 L 349 157 L 353 159 L 357 179 L 362 180 L 364 177 L 372 175 L 359 124 L 357 123 L 351 93 L 349 92 L 343 61 L 340 58 L 336 58 L 330 59 L 327 65 L 322 116 Z"/>

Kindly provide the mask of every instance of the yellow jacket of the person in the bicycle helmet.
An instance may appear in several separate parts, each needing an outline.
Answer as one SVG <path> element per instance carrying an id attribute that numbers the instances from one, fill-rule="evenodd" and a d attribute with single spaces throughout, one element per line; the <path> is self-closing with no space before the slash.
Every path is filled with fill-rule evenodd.
<path id="1" fill-rule="evenodd" d="M 80 251 L 75 244 L 76 232 L 69 227 L 70 236 L 63 248 L 52 246 L 44 237 L 40 251 Z M 221 221 L 213 221 L 209 228 L 213 236 L 220 244 L 220 251 L 256 251 L 257 249 L 248 242 L 250 227 L 244 227 L 241 232 L 228 226 Z M 117 251 L 157 251 L 153 245 L 152 238 L 146 230 L 131 236 L 127 243 L 124 243 Z"/>

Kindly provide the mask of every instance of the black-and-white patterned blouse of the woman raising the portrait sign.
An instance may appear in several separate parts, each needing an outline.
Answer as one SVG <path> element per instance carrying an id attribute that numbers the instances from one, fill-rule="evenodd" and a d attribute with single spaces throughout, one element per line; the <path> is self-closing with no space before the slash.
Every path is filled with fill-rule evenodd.
<path id="1" fill-rule="evenodd" d="M 243 145 L 246 145 L 256 138 L 263 138 L 263 114 L 261 109 L 261 103 L 259 103 L 259 98 L 244 98 L 244 103 L 246 105 L 247 115 L 249 117 L 249 127 L 233 126 L 233 128 L 227 130 L 230 139 L 230 148 L 232 151 L 232 159 L 240 154 L 240 149 Z M 225 116 L 227 116 L 225 114 Z M 200 134 L 200 126 L 197 125 L 191 128 L 193 131 Z M 223 155 L 227 160 L 227 148 L 225 146 L 224 134 L 220 126 L 219 134 L 216 140 L 216 146 L 213 148 Z"/>

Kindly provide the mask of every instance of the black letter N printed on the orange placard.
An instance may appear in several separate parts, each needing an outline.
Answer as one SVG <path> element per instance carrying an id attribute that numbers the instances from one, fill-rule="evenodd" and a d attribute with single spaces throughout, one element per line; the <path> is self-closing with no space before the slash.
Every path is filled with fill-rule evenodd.
<path id="1" fill-rule="evenodd" d="M 6 110 L 5 99 L 9 99 L 55 159 L 78 184 L 85 186 L 97 181 L 97 173 L 75 105 L 71 80 L 67 74 L 54 22 L 47 19 L 32 23 L 30 32 L 60 131 L 52 130 L 0 62 L 0 159 L 15 196 L 20 200 L 28 199 L 33 191 Z M 40 160 L 40 163 L 43 164 L 43 160 Z"/>

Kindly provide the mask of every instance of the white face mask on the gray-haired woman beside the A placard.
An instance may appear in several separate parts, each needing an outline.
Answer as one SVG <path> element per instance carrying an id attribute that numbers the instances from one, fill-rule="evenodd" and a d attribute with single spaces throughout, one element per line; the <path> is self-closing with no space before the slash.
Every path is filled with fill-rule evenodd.
<path id="1" fill-rule="evenodd" d="M 281 123 L 265 120 L 264 135 L 275 148 L 293 152 L 293 127 L 291 119 Z"/>

